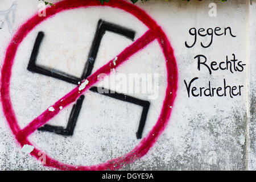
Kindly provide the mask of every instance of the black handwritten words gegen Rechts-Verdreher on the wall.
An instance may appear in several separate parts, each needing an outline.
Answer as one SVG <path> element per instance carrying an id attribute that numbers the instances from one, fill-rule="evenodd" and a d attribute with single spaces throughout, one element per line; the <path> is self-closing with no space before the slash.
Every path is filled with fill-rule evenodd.
<path id="1" fill-rule="evenodd" d="M 224 30 L 221 30 L 220 27 L 214 28 L 208 28 L 205 32 L 204 28 L 199 28 L 198 32 L 196 28 L 190 28 L 189 29 L 189 34 L 194 36 L 194 43 L 192 46 L 188 46 L 187 41 L 185 41 L 185 46 L 187 48 L 191 48 L 195 46 L 196 40 L 197 40 L 197 35 L 199 36 L 210 36 L 210 43 L 208 46 L 204 46 L 203 42 L 201 42 L 201 47 L 203 48 L 208 48 L 212 45 L 213 43 L 213 36 L 226 36 L 227 30 L 229 30 L 229 35 L 232 38 L 236 38 L 236 35 L 232 34 L 232 28 L 231 27 L 225 27 Z M 220 31 L 220 32 L 219 32 Z M 201 32 L 205 32 L 205 34 L 202 34 Z M 218 33 L 219 32 L 219 33 Z M 210 64 L 207 63 L 207 57 L 204 55 L 197 55 L 194 57 L 194 59 L 197 59 L 197 69 L 198 71 L 201 71 L 201 67 L 207 68 L 209 71 L 209 75 L 212 75 L 213 72 L 215 71 L 229 71 L 230 73 L 234 72 L 242 72 L 244 70 L 244 67 L 246 64 L 243 64 L 243 61 L 236 59 L 236 55 L 233 53 L 233 59 L 229 59 L 228 56 L 226 56 L 226 61 L 211 61 Z M 233 98 L 235 96 L 242 96 L 241 89 L 244 88 L 243 85 L 237 85 L 237 86 L 229 86 L 226 82 L 226 79 L 223 79 L 223 85 L 221 86 L 211 86 L 211 81 L 209 81 L 209 84 L 207 86 L 193 86 L 191 87 L 192 83 L 199 79 L 199 77 L 194 77 L 191 79 L 190 82 L 187 82 L 184 80 L 184 84 L 187 89 L 188 97 L 230 97 Z M 213 85 L 213 84 L 212 84 Z M 214 92 L 215 90 L 215 92 Z M 214 94 L 215 93 L 215 94 Z"/>

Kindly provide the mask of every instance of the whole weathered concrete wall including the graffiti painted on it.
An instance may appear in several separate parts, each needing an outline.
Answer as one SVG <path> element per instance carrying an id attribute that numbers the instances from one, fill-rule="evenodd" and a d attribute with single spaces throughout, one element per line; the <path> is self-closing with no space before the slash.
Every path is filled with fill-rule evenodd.
<path id="1" fill-rule="evenodd" d="M 256 56 L 256 2 L 252 1 L 252 5 L 250 1 L 242 0 L 226 3 L 195 0 L 138 2 L 136 6 L 147 15 L 130 8 L 126 3 L 119 8 L 94 6 L 61 11 L 30 30 L 33 22 L 28 19 L 32 15 L 35 15 L 33 20 L 44 18 L 43 12 L 38 15 L 38 10 L 42 7 L 38 1 L 15 0 L 15 22 L 12 22 L 10 13 L 10 27 L 8 19 L 1 12 L 9 9 L 14 1 L 0 1 L 0 21 L 4 22 L 0 29 L 0 169 L 89 169 L 89 166 L 93 166 L 92 169 L 255 170 L 253 57 Z M 119 6 L 119 2 L 110 0 L 109 5 Z M 59 11 L 61 7 L 57 5 L 47 9 L 46 17 L 53 12 L 52 9 Z M 150 18 L 153 20 L 149 20 Z M 151 87 L 148 82 L 146 85 L 126 84 L 125 90 L 122 79 L 104 85 L 112 90 L 114 85 L 118 93 L 131 96 L 140 104 L 141 100 L 150 102 L 142 138 L 136 133 L 143 107 L 131 104 L 133 99 L 118 100 L 114 96 L 108 97 L 86 90 L 87 87 L 79 90 L 81 85 L 61 80 L 60 76 L 53 78 L 39 71 L 35 73 L 34 67 L 34 72 L 27 69 L 38 32 L 43 31 L 44 38 L 36 63 L 51 71 L 55 69 L 59 74 L 61 71 L 80 77 L 92 50 L 99 19 L 109 22 L 112 28 L 117 28 L 118 25 L 119 31 L 118 34 L 107 31 L 102 37 L 92 73 L 108 61 L 111 61 L 108 69 L 114 68 L 114 71 L 112 69 L 111 75 L 97 85 L 104 85 L 104 81 L 106 84 L 113 75 L 125 80 L 136 73 L 142 74 L 142 77 L 148 76 L 147 78 L 152 76 Z M 155 23 L 154 20 L 161 29 L 151 26 Z M 151 30 L 152 27 L 156 30 L 152 30 L 152 36 L 137 45 L 148 31 L 148 24 L 151 24 Z M 197 38 L 192 46 L 195 30 Z M 218 35 L 211 34 L 214 31 Z M 120 35 L 125 32 L 130 33 Z M 135 36 L 131 40 L 133 32 Z M 24 39 L 20 39 L 24 34 Z M 16 38 L 13 39 L 13 36 Z M 117 55 L 120 52 L 129 46 L 130 50 L 150 42 L 153 36 L 160 38 L 146 47 L 142 46 L 142 49 L 119 65 L 122 55 Z M 9 45 L 13 47 L 7 49 Z M 19 46 L 12 59 L 15 45 Z M 174 50 L 175 60 L 170 57 L 170 45 Z M 167 53 L 164 54 L 164 51 Z M 13 61 L 13 65 L 4 64 L 4 61 Z M 219 67 L 221 62 L 224 62 L 221 64 L 223 70 Z M 211 63 L 213 69 L 218 69 L 208 69 Z M 224 69 L 227 64 L 229 67 Z M 88 80 L 90 85 L 93 81 L 90 77 Z M 188 88 L 191 81 L 191 87 Z M 208 93 L 209 90 L 204 93 L 209 88 L 209 82 L 211 93 Z M 224 95 L 224 84 L 233 88 L 233 93 L 226 88 Z M 64 136 L 56 132 L 36 130 L 47 121 L 45 117 L 49 118 L 55 112 L 59 113 L 49 119 L 47 124 L 63 128 L 67 126 L 72 107 L 74 104 L 79 105 L 79 102 L 65 106 L 61 105 L 61 98 L 74 88 L 77 89 L 74 91 L 77 97 L 85 91 L 85 98 L 73 135 Z M 137 93 L 133 88 L 142 90 Z M 143 88 L 147 88 L 145 93 Z M 192 88 L 197 90 L 192 91 Z M 196 96 L 200 94 L 200 88 L 202 94 Z M 222 90 L 217 92 L 218 88 Z M 129 89 L 134 92 L 129 92 Z M 175 98 L 174 102 L 170 101 L 172 98 Z M 64 102 L 69 101 L 67 98 L 63 99 Z M 55 110 L 52 111 L 50 106 Z M 41 117 L 38 125 L 34 128 L 28 125 L 44 111 L 46 115 L 43 119 Z M 22 131 L 31 134 L 26 138 L 26 132 Z M 119 156 L 123 158 L 117 159 Z M 122 159 L 129 162 L 116 163 L 123 162 Z M 42 163 L 51 167 L 44 167 Z"/>

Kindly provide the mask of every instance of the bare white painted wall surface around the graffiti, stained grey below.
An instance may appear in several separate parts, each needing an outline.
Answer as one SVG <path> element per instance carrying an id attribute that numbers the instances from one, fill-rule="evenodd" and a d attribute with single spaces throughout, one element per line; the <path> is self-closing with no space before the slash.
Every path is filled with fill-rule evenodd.
<path id="1" fill-rule="evenodd" d="M 14 32 L 38 10 L 38 1 L 27 1 L 27 3 L 24 3 L 24 0 L 15 1 L 18 6 L 15 23 L 12 23 Z M 249 111 L 247 87 L 249 70 L 250 92 L 255 92 L 253 74 L 255 67 L 251 66 L 254 65 L 255 55 L 255 47 L 253 47 L 255 18 L 251 17 L 256 16 L 254 13 L 256 2 L 250 6 L 250 20 L 252 20 L 250 36 L 247 31 L 249 1 L 237 0 L 226 3 L 213 1 L 217 5 L 217 16 L 212 17 L 209 16 L 211 2 L 151 0 L 136 4 L 155 19 L 168 36 L 174 48 L 179 81 L 177 97 L 166 129 L 142 159 L 127 165 L 124 169 L 244 170 L 248 166 L 248 152 L 250 152 L 250 169 L 255 169 L 255 134 L 250 133 L 249 145 L 246 118 Z M 8 9 L 12 3 L 13 1 L 1 0 L 0 11 Z M 4 20 L 3 17 L 0 18 Z M 32 30 L 20 44 L 15 56 L 10 88 L 11 101 L 21 127 L 26 126 L 48 106 L 74 88 L 74 85 L 64 81 L 27 71 L 28 60 L 38 31 L 44 31 L 46 34 L 38 63 L 53 68 L 58 67 L 61 71 L 79 76 L 83 68 L 80 65 L 88 55 L 96 24 L 100 18 L 135 30 L 135 40 L 147 30 L 142 22 L 123 11 L 109 7 L 93 7 L 57 14 Z M 189 29 L 193 27 L 197 30 L 215 27 L 223 30 L 225 27 L 230 27 L 236 38 L 229 33 L 226 36 L 213 36 L 212 45 L 209 48 L 202 48 L 200 42 L 209 43 L 210 36 L 198 37 L 195 46 L 187 48 L 184 43 L 186 41 L 192 43 L 193 36 L 189 35 Z M 5 49 L 13 33 L 10 33 L 7 25 L 4 24 L 0 35 L 0 60 L 3 64 Z M 102 39 L 93 71 L 132 43 L 129 39 L 107 32 Z M 220 63 L 226 60 L 226 56 L 232 59 L 233 53 L 239 61 L 246 64 L 244 71 L 231 73 L 219 69 L 209 75 L 205 67 L 202 66 L 200 71 L 197 69 L 197 60 L 194 59 L 196 55 L 205 55 L 208 64 L 210 61 Z M 155 41 L 131 57 L 129 63 L 116 70 L 117 73 L 159 74 L 159 97 L 151 100 L 143 137 L 146 137 L 154 126 L 164 100 L 167 85 L 165 61 L 159 44 Z M 212 86 L 223 87 L 224 78 L 231 86 L 243 85 L 241 96 L 188 98 L 184 80 L 190 82 L 194 77 L 199 77 L 194 83 L 197 87 L 205 87 L 209 81 Z M 142 99 L 148 98 L 147 94 L 130 95 Z M 254 95 L 251 94 L 250 98 L 253 100 Z M 65 108 L 49 123 L 67 125 L 71 108 L 72 105 Z M 29 139 L 36 147 L 63 163 L 82 166 L 104 163 L 126 154 L 140 142 L 135 136 L 140 113 L 139 106 L 88 92 L 72 137 L 36 131 Z M 35 158 L 21 151 L 2 110 L 0 121 L 0 169 L 51 169 L 43 167 Z M 254 131 L 253 117 L 250 122 L 250 130 Z"/>

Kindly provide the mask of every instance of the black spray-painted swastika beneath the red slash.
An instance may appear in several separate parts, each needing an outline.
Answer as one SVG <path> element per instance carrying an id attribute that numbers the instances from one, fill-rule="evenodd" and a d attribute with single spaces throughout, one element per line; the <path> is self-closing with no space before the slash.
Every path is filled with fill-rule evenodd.
<path id="1" fill-rule="evenodd" d="M 135 36 L 135 32 L 132 30 L 118 26 L 113 23 L 99 20 L 96 34 L 95 34 L 93 42 L 92 42 L 92 48 L 90 49 L 89 56 L 85 63 L 84 72 L 82 73 L 81 78 L 73 77 L 71 75 L 68 75 L 67 73 L 57 71 L 56 69 L 49 69 L 49 68 L 45 68 L 42 66 L 39 67 L 38 65 L 36 65 L 36 57 L 38 56 L 39 47 L 40 47 L 40 44 L 42 43 L 42 40 L 44 37 L 43 32 L 38 33 L 38 36 L 36 38 L 27 69 L 28 69 L 28 71 L 31 71 L 31 72 L 39 73 L 39 74 L 46 75 L 46 76 L 51 76 L 51 77 L 57 78 L 59 80 L 63 80 L 63 81 L 66 81 L 66 82 L 69 82 L 72 84 L 79 85 L 79 83 L 82 82 L 82 80 L 86 79 L 88 76 L 91 75 L 94 62 L 96 61 L 98 49 L 100 48 L 101 39 L 104 36 L 106 31 L 114 32 L 116 34 L 125 36 L 126 38 L 129 38 L 131 40 L 134 40 L 134 36 Z M 127 96 L 125 94 L 116 93 L 116 92 L 113 92 L 112 90 L 108 90 L 108 89 L 104 89 L 104 88 L 101 88 L 101 89 L 104 90 L 104 93 L 101 93 L 104 96 L 112 97 L 112 98 L 115 98 L 115 99 L 118 99 L 121 101 L 130 102 L 132 104 L 140 105 L 143 107 L 141 120 L 139 122 L 139 128 L 138 128 L 138 131 L 136 134 L 137 138 L 141 139 L 144 125 L 146 123 L 146 118 L 147 118 L 147 113 L 148 113 L 148 109 L 150 106 L 150 102 L 144 101 L 144 100 L 139 100 L 137 98 Z M 98 92 L 99 89 L 96 87 L 92 87 L 89 90 L 96 92 L 96 93 L 100 93 L 100 92 Z M 77 103 L 75 105 L 73 105 L 66 129 L 64 129 L 63 127 L 60 127 L 60 126 L 51 126 L 51 125 L 46 124 L 43 127 L 40 127 L 38 130 L 49 131 L 49 132 L 53 132 L 53 133 L 60 134 L 60 135 L 72 136 L 73 131 L 75 130 L 77 118 L 79 117 L 79 112 L 80 112 L 83 100 L 84 100 L 84 96 L 82 95 L 79 98 L 79 100 L 77 100 Z"/>

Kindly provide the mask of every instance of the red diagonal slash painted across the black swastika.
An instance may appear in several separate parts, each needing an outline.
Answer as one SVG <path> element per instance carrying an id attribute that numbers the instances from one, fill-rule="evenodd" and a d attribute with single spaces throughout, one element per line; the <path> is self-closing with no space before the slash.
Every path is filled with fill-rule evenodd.
<path id="1" fill-rule="evenodd" d="M 158 27 L 159 28 L 159 27 Z M 20 130 L 18 133 L 19 139 L 24 139 L 28 135 L 34 133 L 36 129 L 43 126 L 45 123 L 47 123 L 51 118 L 53 118 L 55 115 L 57 115 L 60 112 L 59 107 L 65 107 L 72 102 L 75 102 L 79 96 L 84 93 L 86 90 L 88 90 L 90 87 L 92 87 L 96 82 L 98 82 L 98 75 L 101 73 L 105 73 L 106 75 L 109 75 L 110 72 L 119 67 L 122 63 L 125 63 L 129 57 L 134 55 L 134 53 L 141 50 L 143 47 L 147 46 L 147 44 L 151 43 L 153 40 L 158 38 L 158 28 L 154 30 L 148 30 L 144 35 L 141 36 L 138 40 L 136 40 L 131 46 L 125 48 L 117 57 L 118 61 L 116 64 L 111 64 L 113 60 L 110 60 L 107 64 L 105 64 L 103 67 L 98 69 L 96 72 L 94 72 L 91 76 L 89 76 L 86 80 L 88 80 L 88 84 L 85 85 L 85 88 L 82 90 L 79 90 L 79 87 L 77 86 L 75 89 L 73 89 L 71 92 L 66 94 L 64 97 L 62 97 L 59 101 L 55 102 L 52 107 L 55 109 L 54 111 L 49 111 L 48 109 L 44 111 L 42 114 L 39 115 L 39 117 L 35 118 L 31 123 L 29 123 L 26 127 L 24 127 L 23 130 Z M 102 79 L 102 77 L 101 77 Z M 82 82 L 84 83 L 85 80 Z M 81 83 L 81 84 L 82 84 Z M 81 85 L 80 84 L 80 85 Z"/>

